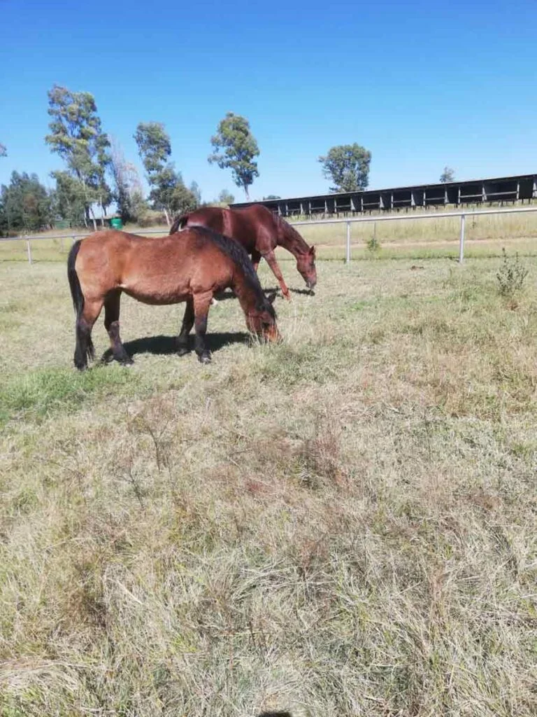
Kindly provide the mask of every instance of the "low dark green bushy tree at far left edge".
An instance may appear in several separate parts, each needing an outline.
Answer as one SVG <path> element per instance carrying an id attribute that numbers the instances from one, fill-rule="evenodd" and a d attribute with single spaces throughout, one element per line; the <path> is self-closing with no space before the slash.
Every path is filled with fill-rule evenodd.
<path id="1" fill-rule="evenodd" d="M 37 174 L 13 172 L 9 185 L 1 187 L 1 205 L 9 231 L 35 231 L 50 227 L 54 219 L 52 193 Z"/>

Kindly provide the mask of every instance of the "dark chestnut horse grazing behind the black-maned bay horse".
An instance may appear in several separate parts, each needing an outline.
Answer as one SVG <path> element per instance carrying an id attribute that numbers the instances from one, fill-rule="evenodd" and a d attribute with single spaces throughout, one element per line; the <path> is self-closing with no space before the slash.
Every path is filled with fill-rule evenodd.
<path id="1" fill-rule="evenodd" d="M 274 255 L 276 246 L 284 247 L 296 257 L 296 269 L 309 289 L 313 289 L 316 285 L 315 247 L 309 247 L 291 224 L 262 204 L 252 204 L 243 209 L 202 206 L 195 212 L 183 214 L 182 217 L 175 219 L 170 234 L 175 234 L 183 227 L 208 227 L 215 232 L 225 234 L 226 237 L 233 237 L 251 255 L 253 268 L 256 271 L 263 257 L 279 281 L 281 292 L 286 299 L 290 299 L 291 296 Z"/>

